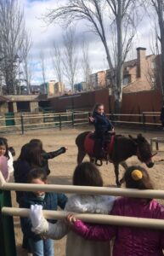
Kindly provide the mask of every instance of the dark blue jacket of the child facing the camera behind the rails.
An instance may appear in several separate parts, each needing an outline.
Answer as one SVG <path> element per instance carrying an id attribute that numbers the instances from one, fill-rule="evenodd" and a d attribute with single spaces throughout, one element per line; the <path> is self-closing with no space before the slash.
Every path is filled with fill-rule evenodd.
<path id="1" fill-rule="evenodd" d="M 54 210 L 56 211 L 58 206 L 61 209 L 65 208 L 67 202 L 67 197 L 64 194 L 58 193 L 46 193 L 44 198 L 37 197 L 33 193 L 25 193 L 24 197 L 20 200 L 21 208 L 30 208 L 31 205 L 42 205 L 43 210 Z M 48 220 L 51 223 L 55 223 L 55 220 Z M 30 218 L 20 218 L 21 230 L 27 238 L 31 238 L 35 241 L 41 240 L 42 237 L 36 235 L 31 231 L 31 219 Z"/>

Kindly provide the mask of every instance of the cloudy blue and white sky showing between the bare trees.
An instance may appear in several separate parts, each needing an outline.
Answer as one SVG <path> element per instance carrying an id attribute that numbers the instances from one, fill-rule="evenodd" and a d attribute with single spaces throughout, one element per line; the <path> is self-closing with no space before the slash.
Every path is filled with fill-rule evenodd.
<path id="1" fill-rule="evenodd" d="M 25 24 L 27 29 L 31 32 L 32 47 L 31 47 L 31 58 L 32 58 L 32 81 L 31 84 L 42 83 L 42 68 L 41 61 L 39 58 L 40 52 L 42 51 L 45 55 L 46 63 L 46 80 L 56 79 L 54 68 L 52 65 L 52 45 L 55 40 L 58 44 L 61 44 L 63 33 L 65 32 L 60 26 L 47 26 L 42 20 L 48 9 L 53 9 L 59 2 L 65 2 L 65 0 L 22 0 L 22 4 L 25 11 Z M 147 49 L 147 55 L 151 54 L 150 41 L 151 41 L 151 27 L 152 23 L 147 17 L 143 18 L 140 22 L 138 32 L 133 42 L 133 49 L 128 55 L 128 59 L 136 57 L 136 48 L 141 46 Z M 84 22 L 80 22 L 76 26 L 76 40 L 78 44 L 85 37 L 89 44 L 89 59 L 92 72 L 106 69 L 108 67 L 106 63 L 105 50 L 95 35 L 91 32 L 86 32 L 87 26 Z M 79 58 L 82 60 L 81 50 L 78 50 Z M 81 63 L 81 61 L 79 62 Z M 81 82 L 82 77 L 82 65 L 79 65 L 78 76 L 76 82 Z M 65 80 L 65 84 L 68 85 Z"/>

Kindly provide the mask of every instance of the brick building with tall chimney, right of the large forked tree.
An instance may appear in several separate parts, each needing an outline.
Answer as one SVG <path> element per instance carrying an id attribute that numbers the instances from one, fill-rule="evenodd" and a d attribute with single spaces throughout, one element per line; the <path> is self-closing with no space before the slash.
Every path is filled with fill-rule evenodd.
<path id="1" fill-rule="evenodd" d="M 123 65 L 123 93 L 159 88 L 160 69 L 160 55 L 146 56 L 145 48 L 137 48 L 137 59 L 126 61 Z M 111 86 L 110 77 L 110 70 L 107 70 L 106 79 L 108 87 Z"/>

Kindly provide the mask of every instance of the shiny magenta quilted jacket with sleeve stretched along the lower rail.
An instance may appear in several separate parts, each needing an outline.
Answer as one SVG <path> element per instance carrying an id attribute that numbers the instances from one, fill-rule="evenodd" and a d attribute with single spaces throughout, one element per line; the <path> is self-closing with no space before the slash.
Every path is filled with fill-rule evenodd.
<path id="1" fill-rule="evenodd" d="M 119 198 L 113 215 L 164 219 L 164 207 L 157 201 Z M 73 230 L 85 239 L 108 241 L 116 237 L 113 256 L 161 256 L 164 249 L 164 230 L 148 230 L 121 226 L 91 225 L 76 220 Z"/>

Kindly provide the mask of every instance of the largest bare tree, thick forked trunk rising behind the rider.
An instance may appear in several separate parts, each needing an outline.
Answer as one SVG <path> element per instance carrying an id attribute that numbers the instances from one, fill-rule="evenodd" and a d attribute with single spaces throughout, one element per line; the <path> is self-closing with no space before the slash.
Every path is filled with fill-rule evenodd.
<path id="1" fill-rule="evenodd" d="M 87 20 L 89 31 L 99 36 L 105 47 L 106 58 L 110 67 L 110 83 L 115 94 L 116 110 L 122 105 L 122 67 L 131 47 L 135 34 L 135 0 L 68 0 L 64 5 L 48 12 L 48 22 L 61 22 L 68 26 L 76 20 Z M 109 8 L 109 9 L 107 9 Z M 108 39 L 110 25 L 116 26 L 116 67 L 111 60 Z M 108 27 L 108 29 L 107 29 Z M 111 39 L 111 38 L 110 38 Z"/>

